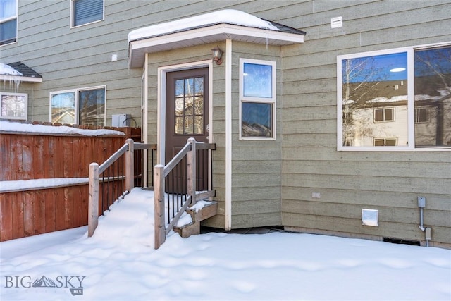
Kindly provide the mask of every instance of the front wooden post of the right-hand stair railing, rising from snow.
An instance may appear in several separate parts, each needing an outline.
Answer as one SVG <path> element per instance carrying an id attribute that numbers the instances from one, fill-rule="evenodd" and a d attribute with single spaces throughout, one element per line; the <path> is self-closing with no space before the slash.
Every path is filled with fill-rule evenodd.
<path id="1" fill-rule="evenodd" d="M 154 247 L 158 249 L 166 240 L 164 224 L 164 166 L 158 164 L 154 167 Z"/>

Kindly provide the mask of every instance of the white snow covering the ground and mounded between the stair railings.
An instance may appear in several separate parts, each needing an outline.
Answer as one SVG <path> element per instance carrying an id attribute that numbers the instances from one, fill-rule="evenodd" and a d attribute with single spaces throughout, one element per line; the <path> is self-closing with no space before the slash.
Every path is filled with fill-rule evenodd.
<path id="1" fill-rule="evenodd" d="M 1 242 L 0 300 L 451 300 L 451 250 L 299 233 L 171 233 L 154 250 L 153 220 L 135 188 L 92 238 Z"/>

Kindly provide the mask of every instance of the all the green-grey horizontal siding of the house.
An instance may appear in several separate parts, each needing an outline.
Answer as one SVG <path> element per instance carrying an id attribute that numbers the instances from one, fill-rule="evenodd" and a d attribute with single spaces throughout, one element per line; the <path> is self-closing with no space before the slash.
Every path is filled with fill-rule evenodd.
<path id="1" fill-rule="evenodd" d="M 0 47 L 2 63 L 23 61 L 42 83 L 2 91 L 28 93 L 28 119 L 49 121 L 49 92 L 106 85 L 106 125 L 129 113 L 140 125 L 142 69 L 128 68 L 127 35 L 140 27 L 234 8 L 307 32 L 303 44 L 268 47 L 233 42 L 232 228 L 285 226 L 293 231 L 380 240 L 421 241 L 416 198 L 426 197 L 431 245 L 451 247 L 449 150 L 337 150 L 337 56 L 451 41 L 451 1 L 105 1 L 104 20 L 70 28 L 70 1 L 19 0 L 18 42 Z M 342 16 L 343 26 L 330 28 Z M 148 142 L 156 142 L 157 68 L 210 59 L 202 45 L 152 54 L 148 63 Z M 219 43 L 221 49 L 226 43 Z M 118 61 L 111 55 L 118 54 Z M 238 139 L 239 59 L 277 62 L 277 139 Z M 225 225 L 225 57 L 214 64 L 214 189 Z M 258 149 L 258 152 L 256 152 Z M 314 193 L 315 192 L 315 193 Z M 312 197 L 314 193 L 315 197 Z M 319 193 L 319 194 L 318 194 Z M 320 196 L 318 198 L 318 196 Z M 379 226 L 362 226 L 362 209 L 379 210 Z"/>

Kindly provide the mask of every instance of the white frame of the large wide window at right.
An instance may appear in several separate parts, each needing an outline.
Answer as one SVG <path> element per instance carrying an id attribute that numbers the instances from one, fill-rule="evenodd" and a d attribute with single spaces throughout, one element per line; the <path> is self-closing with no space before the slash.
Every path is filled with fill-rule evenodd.
<path id="1" fill-rule="evenodd" d="M 438 47 L 451 47 L 450 42 L 424 44 L 412 47 L 400 47 L 376 51 L 359 52 L 357 54 L 342 54 L 337 56 L 337 150 L 338 151 L 451 151 L 451 147 L 415 147 L 415 106 L 414 106 L 414 58 L 416 50 L 426 50 Z M 383 54 L 407 53 L 407 135 L 408 145 L 396 147 L 352 147 L 342 145 L 342 61 L 345 59 L 358 59 L 366 56 L 380 56 Z M 394 112 L 395 113 L 395 112 Z"/>

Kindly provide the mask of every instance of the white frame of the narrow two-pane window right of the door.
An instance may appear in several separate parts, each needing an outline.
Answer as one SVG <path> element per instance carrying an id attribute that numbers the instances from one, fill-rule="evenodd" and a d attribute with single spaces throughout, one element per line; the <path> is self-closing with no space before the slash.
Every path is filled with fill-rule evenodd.
<path id="1" fill-rule="evenodd" d="M 271 66 L 272 68 L 272 75 L 271 75 L 271 97 L 249 97 L 244 96 L 244 66 L 245 63 L 253 63 L 257 65 L 266 65 Z M 240 58 L 240 105 L 238 109 L 238 115 L 239 115 L 239 140 L 276 140 L 276 98 L 277 98 L 277 86 L 276 86 L 276 61 L 264 61 L 264 60 L 257 60 L 257 59 L 245 59 Z M 272 135 L 271 137 L 243 137 L 242 136 L 242 103 L 243 102 L 253 102 L 257 104 L 271 104 L 272 106 L 272 112 L 271 112 L 271 118 L 272 118 Z"/>

